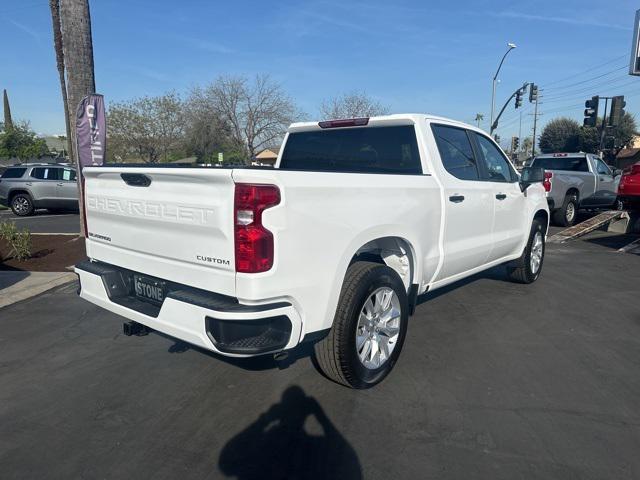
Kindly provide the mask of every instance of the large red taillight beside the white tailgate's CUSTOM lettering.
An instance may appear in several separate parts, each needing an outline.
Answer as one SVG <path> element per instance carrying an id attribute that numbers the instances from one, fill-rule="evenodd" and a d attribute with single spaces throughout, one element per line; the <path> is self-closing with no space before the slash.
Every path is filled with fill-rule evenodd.
<path id="1" fill-rule="evenodd" d="M 279 203 L 280 190 L 275 185 L 236 184 L 236 272 L 266 272 L 273 266 L 273 234 L 262 225 L 262 212 Z"/>

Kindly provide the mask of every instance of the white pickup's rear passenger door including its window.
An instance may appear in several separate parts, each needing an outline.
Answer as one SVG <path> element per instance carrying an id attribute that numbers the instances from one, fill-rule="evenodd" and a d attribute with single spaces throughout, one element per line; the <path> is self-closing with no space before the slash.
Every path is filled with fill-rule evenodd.
<path id="1" fill-rule="evenodd" d="M 492 244 L 493 187 L 480 181 L 467 130 L 431 124 L 444 190 L 443 264 L 435 281 L 445 280 L 487 262 Z"/>

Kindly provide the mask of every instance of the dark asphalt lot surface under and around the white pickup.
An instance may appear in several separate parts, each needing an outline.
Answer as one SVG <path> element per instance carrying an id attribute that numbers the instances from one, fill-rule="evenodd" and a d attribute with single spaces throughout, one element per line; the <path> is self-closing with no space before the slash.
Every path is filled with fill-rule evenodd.
<path id="1" fill-rule="evenodd" d="M 598 232 L 549 245 L 540 281 L 500 268 L 434 292 L 400 361 L 353 391 L 229 361 L 68 285 L 0 310 L 3 478 L 640 477 L 640 256 Z"/>

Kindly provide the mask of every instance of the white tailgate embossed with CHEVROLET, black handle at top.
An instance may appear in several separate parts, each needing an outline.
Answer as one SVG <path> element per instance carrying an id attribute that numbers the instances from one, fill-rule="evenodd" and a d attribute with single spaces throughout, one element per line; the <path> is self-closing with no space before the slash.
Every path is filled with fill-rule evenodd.
<path id="1" fill-rule="evenodd" d="M 83 170 L 87 256 L 235 295 L 231 169 Z"/>

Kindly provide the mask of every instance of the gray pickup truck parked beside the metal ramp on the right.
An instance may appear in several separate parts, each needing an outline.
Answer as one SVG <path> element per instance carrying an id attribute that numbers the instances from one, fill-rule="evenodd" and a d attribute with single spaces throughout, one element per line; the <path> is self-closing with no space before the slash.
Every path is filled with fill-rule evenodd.
<path id="1" fill-rule="evenodd" d="M 622 172 L 597 155 L 548 153 L 535 157 L 531 166 L 545 170 L 543 185 L 555 225 L 570 227 L 579 209 L 618 208 Z"/>

